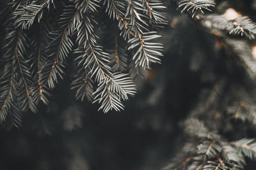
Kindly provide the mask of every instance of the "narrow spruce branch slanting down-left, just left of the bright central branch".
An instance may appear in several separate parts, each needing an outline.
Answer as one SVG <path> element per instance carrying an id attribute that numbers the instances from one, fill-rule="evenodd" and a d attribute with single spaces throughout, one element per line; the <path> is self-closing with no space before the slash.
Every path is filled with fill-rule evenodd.
<path id="1" fill-rule="evenodd" d="M 60 29 L 51 34 L 53 40 L 47 48 L 50 60 L 42 69 L 44 74 L 42 79 L 48 83 L 51 89 L 58 83 L 58 76 L 63 79 L 65 60 L 74 45 L 71 36 L 75 31 L 76 16 L 77 12 L 74 11 L 74 6 L 67 6 L 58 20 Z"/>

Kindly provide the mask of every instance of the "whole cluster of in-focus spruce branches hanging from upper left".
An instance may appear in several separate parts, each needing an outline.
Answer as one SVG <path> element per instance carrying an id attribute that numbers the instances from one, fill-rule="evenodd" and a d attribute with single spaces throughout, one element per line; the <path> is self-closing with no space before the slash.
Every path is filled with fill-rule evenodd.
<path id="1" fill-rule="evenodd" d="M 130 77 L 145 76 L 150 63 L 163 56 L 163 45 L 155 40 L 166 24 L 161 0 L 20 0 L 3 1 L 1 8 L 8 14 L 3 18 L 0 122 L 10 119 L 11 126 L 19 127 L 22 112 L 36 112 L 40 101 L 49 103 L 70 62 L 77 99 L 100 103 L 106 113 L 123 110 L 122 101 L 136 93 Z M 115 29 L 115 36 L 102 34 L 104 27 Z M 106 37 L 112 46 L 99 45 Z"/>

